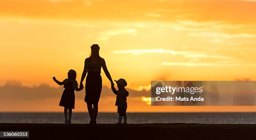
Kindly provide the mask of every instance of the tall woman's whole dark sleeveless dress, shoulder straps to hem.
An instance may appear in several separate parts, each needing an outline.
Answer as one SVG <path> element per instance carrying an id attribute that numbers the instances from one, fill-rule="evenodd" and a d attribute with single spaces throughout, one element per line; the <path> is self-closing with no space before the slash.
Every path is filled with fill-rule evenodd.
<path id="1" fill-rule="evenodd" d="M 99 57 L 100 59 L 100 57 Z M 87 77 L 85 82 L 85 97 L 84 102 L 88 104 L 97 104 L 100 100 L 100 93 L 102 89 L 102 78 L 100 76 L 101 64 L 98 59 L 97 64 L 88 62 Z"/>

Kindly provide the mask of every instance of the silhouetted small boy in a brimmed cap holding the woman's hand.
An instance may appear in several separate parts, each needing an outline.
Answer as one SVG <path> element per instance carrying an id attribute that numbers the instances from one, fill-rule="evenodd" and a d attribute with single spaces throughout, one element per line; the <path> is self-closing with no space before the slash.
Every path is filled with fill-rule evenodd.
<path id="1" fill-rule="evenodd" d="M 127 85 L 127 82 L 124 79 L 115 80 L 117 83 L 118 90 L 115 89 L 114 86 L 111 87 L 112 91 L 116 95 L 116 101 L 115 106 L 118 106 L 118 113 L 119 113 L 119 120 L 116 125 L 122 125 L 122 119 L 123 119 L 123 125 L 127 125 L 127 116 L 126 116 L 126 109 L 127 109 L 127 102 L 126 97 L 128 97 L 129 92 L 125 90 L 125 86 Z"/>

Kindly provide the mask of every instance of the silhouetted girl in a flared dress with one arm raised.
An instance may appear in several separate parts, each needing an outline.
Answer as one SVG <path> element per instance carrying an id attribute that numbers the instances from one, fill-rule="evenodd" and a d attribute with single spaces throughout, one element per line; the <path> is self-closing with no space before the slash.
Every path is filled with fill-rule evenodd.
<path id="1" fill-rule="evenodd" d="M 64 116 L 65 116 L 65 125 L 71 125 L 71 116 L 72 116 L 72 109 L 74 109 L 74 102 L 75 102 L 75 95 L 74 90 L 80 91 L 83 88 L 78 88 L 78 84 L 76 81 L 77 72 L 74 70 L 69 70 L 68 78 L 63 80 L 63 82 L 59 82 L 53 77 L 53 80 L 59 84 L 64 85 L 64 91 L 61 96 L 61 100 L 59 102 L 59 106 L 64 107 Z M 69 110 L 69 112 L 68 112 Z M 69 113 L 69 119 L 67 119 L 67 114 Z"/>

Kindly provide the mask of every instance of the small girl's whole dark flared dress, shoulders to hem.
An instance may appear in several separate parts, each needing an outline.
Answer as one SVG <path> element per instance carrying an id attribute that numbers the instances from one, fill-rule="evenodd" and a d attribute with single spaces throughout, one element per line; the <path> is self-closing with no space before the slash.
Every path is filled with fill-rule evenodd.
<path id="1" fill-rule="evenodd" d="M 68 80 L 64 84 L 64 91 L 61 96 L 61 100 L 59 102 L 59 106 L 62 107 L 71 107 L 74 109 L 74 102 L 75 102 L 75 95 L 74 95 L 74 89 L 73 89 L 73 81 Z"/>

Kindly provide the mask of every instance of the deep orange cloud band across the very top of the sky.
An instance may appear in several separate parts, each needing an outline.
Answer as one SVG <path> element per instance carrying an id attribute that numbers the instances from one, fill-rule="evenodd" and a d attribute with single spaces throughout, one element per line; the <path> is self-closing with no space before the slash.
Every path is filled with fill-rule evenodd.
<path id="1" fill-rule="evenodd" d="M 159 0 L 157 0 L 159 1 Z M 160 0 L 164 1 L 164 0 Z M 119 20 L 119 21 L 175 21 L 177 17 L 186 20 L 252 23 L 255 2 L 234 0 L 129 0 L 110 2 L 108 0 L 5 0 L 0 5 L 0 15 L 8 17 L 46 18 L 64 20 Z M 250 0 L 252 1 L 252 0 Z M 253 0 L 254 1 L 254 0 Z M 31 6 L 33 5 L 33 6 Z M 88 6 L 90 5 L 90 6 Z M 143 5 L 143 6 L 141 6 Z M 207 10 L 215 5 L 216 12 Z M 118 11 L 118 12 L 117 12 Z M 136 13 L 131 15 L 132 13 Z M 250 22 L 248 22 L 250 21 Z"/>

